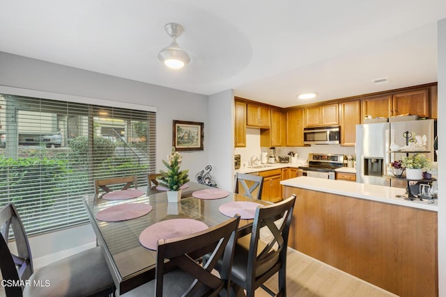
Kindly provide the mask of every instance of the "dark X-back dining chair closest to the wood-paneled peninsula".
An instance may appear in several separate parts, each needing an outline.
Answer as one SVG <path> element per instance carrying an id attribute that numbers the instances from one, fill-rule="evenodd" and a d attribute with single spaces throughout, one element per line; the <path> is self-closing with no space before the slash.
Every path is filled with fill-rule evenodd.
<path id="1" fill-rule="evenodd" d="M 238 239 L 233 259 L 231 281 L 243 287 L 247 296 L 264 287 L 279 272 L 279 293 L 286 295 L 286 249 L 296 196 L 267 206 L 257 207 L 252 233 Z M 273 295 L 274 296 L 274 295 Z"/>

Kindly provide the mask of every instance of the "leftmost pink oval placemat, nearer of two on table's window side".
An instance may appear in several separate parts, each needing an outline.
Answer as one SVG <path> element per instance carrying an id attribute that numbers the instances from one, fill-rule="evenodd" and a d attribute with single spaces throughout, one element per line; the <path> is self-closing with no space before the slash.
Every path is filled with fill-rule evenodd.
<path id="1" fill-rule="evenodd" d="M 98 220 L 106 222 L 117 222 L 118 220 L 131 220 L 139 218 L 151 212 L 152 206 L 143 203 L 119 204 L 107 209 L 101 210 L 96 214 Z"/>

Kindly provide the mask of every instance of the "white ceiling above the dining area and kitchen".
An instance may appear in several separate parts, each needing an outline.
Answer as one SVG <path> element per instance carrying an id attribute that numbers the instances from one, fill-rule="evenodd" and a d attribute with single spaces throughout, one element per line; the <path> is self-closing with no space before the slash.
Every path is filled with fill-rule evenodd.
<path id="1" fill-rule="evenodd" d="M 0 0 L 0 51 L 287 107 L 437 81 L 445 17 L 445 0 Z M 182 70 L 157 60 L 169 22 L 185 29 Z"/>

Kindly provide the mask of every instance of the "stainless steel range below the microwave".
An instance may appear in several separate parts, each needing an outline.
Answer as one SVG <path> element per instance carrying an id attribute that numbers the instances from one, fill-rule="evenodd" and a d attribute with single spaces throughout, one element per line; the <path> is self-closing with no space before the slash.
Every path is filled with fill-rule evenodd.
<path id="1" fill-rule="evenodd" d="M 308 165 L 298 170 L 303 176 L 334 179 L 334 170 L 343 166 L 343 154 L 308 154 Z"/>

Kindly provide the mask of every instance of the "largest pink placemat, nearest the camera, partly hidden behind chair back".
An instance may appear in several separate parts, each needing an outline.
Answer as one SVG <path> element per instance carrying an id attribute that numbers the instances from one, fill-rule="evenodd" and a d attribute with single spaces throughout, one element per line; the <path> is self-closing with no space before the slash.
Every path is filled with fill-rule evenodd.
<path id="1" fill-rule="evenodd" d="M 150 250 L 156 250 L 159 239 L 171 239 L 208 229 L 208 225 L 192 218 L 162 220 L 147 227 L 139 235 L 139 242 Z"/>

